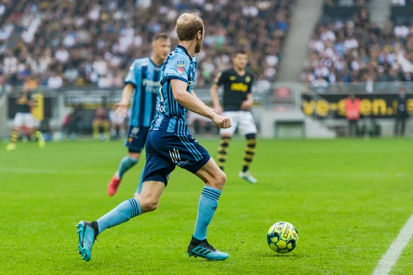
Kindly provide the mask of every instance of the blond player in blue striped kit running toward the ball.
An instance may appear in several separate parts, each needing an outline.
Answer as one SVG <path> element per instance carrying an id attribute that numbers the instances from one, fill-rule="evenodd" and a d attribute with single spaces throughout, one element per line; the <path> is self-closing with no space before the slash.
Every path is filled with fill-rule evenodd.
<path id="1" fill-rule="evenodd" d="M 204 181 L 198 203 L 195 231 L 188 245 L 189 256 L 211 261 L 225 260 L 228 254 L 207 241 L 207 228 L 218 206 L 226 175 L 209 153 L 189 134 L 187 110 L 209 118 L 220 128 L 231 127 L 231 120 L 209 108 L 193 93 L 197 58 L 204 41 L 204 23 L 197 14 L 184 13 L 176 22 L 179 45 L 169 54 L 160 78 L 156 118 L 147 136 L 147 162 L 140 195 L 127 199 L 96 221 L 80 221 L 78 253 L 89 261 L 98 234 L 140 214 L 156 210 L 170 173 L 176 165 Z"/>

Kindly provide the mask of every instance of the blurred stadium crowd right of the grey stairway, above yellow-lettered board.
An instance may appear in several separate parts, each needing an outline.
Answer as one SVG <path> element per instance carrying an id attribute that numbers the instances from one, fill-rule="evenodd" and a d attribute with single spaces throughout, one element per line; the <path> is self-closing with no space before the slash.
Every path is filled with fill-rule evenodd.
<path id="1" fill-rule="evenodd" d="M 411 81 L 413 21 L 394 17 L 379 28 L 370 21 L 366 1 L 352 3 L 359 8 L 352 17 L 323 17 L 317 24 L 301 81 L 319 92 L 337 83 L 363 82 L 372 92 L 374 83 Z"/>

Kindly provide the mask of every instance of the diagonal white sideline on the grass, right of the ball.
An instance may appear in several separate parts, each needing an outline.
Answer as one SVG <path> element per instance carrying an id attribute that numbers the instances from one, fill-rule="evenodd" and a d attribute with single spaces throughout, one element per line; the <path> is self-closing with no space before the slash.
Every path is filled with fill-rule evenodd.
<path id="1" fill-rule="evenodd" d="M 393 241 L 387 252 L 381 257 L 372 275 L 388 275 L 397 259 L 413 235 L 413 214 L 401 228 L 399 236 Z"/>

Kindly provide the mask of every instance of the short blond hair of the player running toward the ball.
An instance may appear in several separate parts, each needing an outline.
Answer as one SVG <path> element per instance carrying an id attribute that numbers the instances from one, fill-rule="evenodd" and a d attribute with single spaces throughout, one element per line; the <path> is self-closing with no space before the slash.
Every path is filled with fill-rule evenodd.
<path id="1" fill-rule="evenodd" d="M 191 41 L 199 31 L 204 33 L 204 22 L 198 14 L 187 12 L 178 17 L 175 30 L 179 41 Z"/>

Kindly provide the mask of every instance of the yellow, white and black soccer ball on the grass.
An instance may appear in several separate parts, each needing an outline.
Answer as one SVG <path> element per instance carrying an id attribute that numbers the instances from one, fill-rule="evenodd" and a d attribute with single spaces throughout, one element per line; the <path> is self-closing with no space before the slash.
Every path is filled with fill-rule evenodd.
<path id="1" fill-rule="evenodd" d="M 275 252 L 291 252 L 297 246 L 297 242 L 298 232 L 291 223 L 279 221 L 268 229 L 267 243 Z"/>

